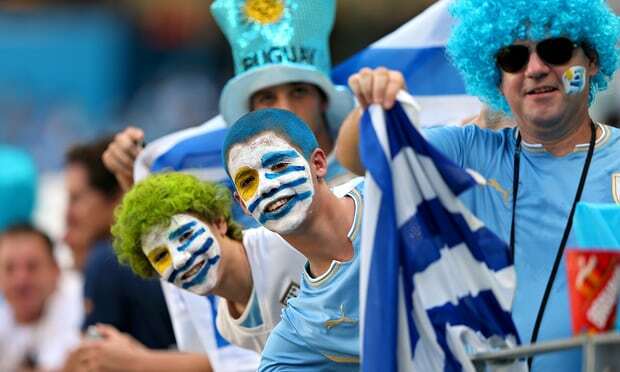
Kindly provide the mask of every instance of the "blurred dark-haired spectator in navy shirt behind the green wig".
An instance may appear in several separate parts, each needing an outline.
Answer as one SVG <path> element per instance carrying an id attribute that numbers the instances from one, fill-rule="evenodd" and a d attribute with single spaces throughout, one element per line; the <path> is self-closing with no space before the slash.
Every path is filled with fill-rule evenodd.
<path id="1" fill-rule="evenodd" d="M 145 281 L 116 261 L 110 242 L 113 212 L 120 198 L 114 175 L 101 155 L 109 138 L 77 145 L 66 155 L 69 193 L 65 240 L 84 273 L 82 329 L 104 323 L 151 348 L 175 344 L 160 283 Z M 76 250 L 76 246 L 85 248 Z"/>

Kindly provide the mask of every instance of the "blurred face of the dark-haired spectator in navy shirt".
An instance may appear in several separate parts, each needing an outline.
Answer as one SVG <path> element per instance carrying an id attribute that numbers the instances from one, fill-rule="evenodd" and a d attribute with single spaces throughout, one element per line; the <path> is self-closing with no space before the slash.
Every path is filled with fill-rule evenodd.
<path id="1" fill-rule="evenodd" d="M 73 249 L 86 249 L 95 240 L 108 236 L 116 198 L 93 188 L 88 181 L 88 172 L 81 164 L 67 166 L 65 187 L 69 199 L 65 240 Z"/>

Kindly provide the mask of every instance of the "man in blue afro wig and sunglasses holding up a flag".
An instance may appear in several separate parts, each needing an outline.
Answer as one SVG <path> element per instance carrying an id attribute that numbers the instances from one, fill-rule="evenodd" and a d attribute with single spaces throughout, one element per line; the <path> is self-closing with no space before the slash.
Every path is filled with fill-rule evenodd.
<path id="1" fill-rule="evenodd" d="M 447 51 L 468 91 L 516 127 L 431 128 L 426 137 L 488 180 L 460 198 L 510 242 L 517 274 L 512 312 L 522 342 L 570 337 L 561 262 L 565 247 L 575 246 L 575 205 L 620 203 L 620 131 L 589 114 L 616 71 L 620 22 L 602 0 L 456 0 L 451 11 L 456 25 Z M 377 68 L 349 79 L 362 107 L 343 124 L 336 153 L 356 173 L 364 171 L 357 149 L 362 109 L 391 107 L 404 88 L 394 76 Z M 581 353 L 528 362 L 533 371 L 578 371 Z"/>

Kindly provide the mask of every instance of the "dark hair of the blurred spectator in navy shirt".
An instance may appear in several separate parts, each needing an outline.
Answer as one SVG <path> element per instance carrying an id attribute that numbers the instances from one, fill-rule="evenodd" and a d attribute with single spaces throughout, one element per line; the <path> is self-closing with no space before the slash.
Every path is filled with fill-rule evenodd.
<path id="1" fill-rule="evenodd" d="M 116 177 L 101 160 L 112 140 L 113 138 L 108 136 L 93 142 L 77 144 L 69 148 L 65 155 L 65 161 L 68 165 L 79 164 L 86 168 L 90 186 L 108 197 L 113 197 L 120 191 Z"/>

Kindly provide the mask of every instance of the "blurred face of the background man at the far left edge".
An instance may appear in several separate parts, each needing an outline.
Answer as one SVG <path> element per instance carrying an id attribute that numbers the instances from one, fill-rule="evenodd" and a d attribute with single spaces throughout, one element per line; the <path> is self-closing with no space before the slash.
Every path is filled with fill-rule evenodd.
<path id="1" fill-rule="evenodd" d="M 58 282 L 46 242 L 29 233 L 0 239 L 0 288 L 19 323 L 37 321 Z"/>

